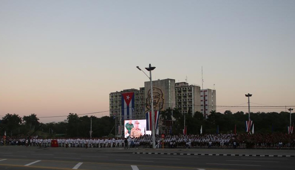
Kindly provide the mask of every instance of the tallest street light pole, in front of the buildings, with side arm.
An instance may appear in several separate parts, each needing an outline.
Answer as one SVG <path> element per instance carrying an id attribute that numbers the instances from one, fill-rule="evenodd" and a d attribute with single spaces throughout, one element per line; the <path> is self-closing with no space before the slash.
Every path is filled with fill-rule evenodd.
<path id="1" fill-rule="evenodd" d="M 139 66 L 136 66 L 136 68 L 140 71 L 142 71 Z M 150 72 L 150 76 L 148 76 L 144 71 L 145 75 L 150 79 L 150 98 L 152 100 L 151 102 L 151 111 L 152 111 L 152 142 L 153 142 L 153 149 L 155 149 L 155 116 L 154 116 L 154 99 L 153 99 L 153 82 L 152 82 L 152 70 L 154 70 L 156 67 L 152 67 L 151 64 L 149 67 L 146 67 L 145 69 Z"/>

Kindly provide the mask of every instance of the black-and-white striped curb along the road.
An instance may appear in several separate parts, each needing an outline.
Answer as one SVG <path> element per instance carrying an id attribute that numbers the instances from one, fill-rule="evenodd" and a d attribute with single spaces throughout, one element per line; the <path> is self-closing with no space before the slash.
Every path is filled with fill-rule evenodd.
<path id="1" fill-rule="evenodd" d="M 204 154 L 204 153 L 148 153 L 132 152 L 133 154 L 154 154 L 154 155 L 206 155 L 206 156 L 266 156 L 266 157 L 295 157 L 295 155 L 246 155 L 246 154 Z"/>

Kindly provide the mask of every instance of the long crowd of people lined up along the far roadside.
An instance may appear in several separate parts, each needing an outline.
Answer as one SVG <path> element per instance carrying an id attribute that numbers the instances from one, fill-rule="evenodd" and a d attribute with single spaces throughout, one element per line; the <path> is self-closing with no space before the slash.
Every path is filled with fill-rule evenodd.
<path id="1" fill-rule="evenodd" d="M 1 136 L 0 145 L 4 145 Z M 24 135 L 7 137 L 6 145 L 50 147 L 53 140 L 58 147 L 83 147 L 83 148 L 106 148 L 106 147 L 152 147 L 152 136 L 142 135 L 138 138 L 41 138 L 40 136 L 27 137 Z M 127 140 L 127 141 L 126 141 Z M 201 134 L 201 135 L 155 135 L 156 148 L 290 148 L 294 149 L 295 135 L 274 134 Z"/>

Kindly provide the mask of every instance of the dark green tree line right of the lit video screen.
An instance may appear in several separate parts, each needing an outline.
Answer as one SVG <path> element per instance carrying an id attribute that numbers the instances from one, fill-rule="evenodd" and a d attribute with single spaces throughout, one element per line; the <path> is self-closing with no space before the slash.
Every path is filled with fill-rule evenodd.
<path id="1" fill-rule="evenodd" d="M 172 110 L 166 109 L 161 112 L 164 120 L 172 120 Z M 232 113 L 226 110 L 224 113 L 212 110 L 210 115 L 205 118 L 201 112 L 191 114 L 189 110 L 185 114 L 185 125 L 187 127 L 187 134 L 200 134 L 202 126 L 202 133 L 214 134 L 217 133 L 234 133 L 235 127 L 237 133 L 246 133 L 246 120 L 248 120 L 248 113 L 236 112 Z M 183 133 L 184 129 L 184 114 L 173 109 L 172 133 Z M 250 119 L 254 123 L 254 133 L 288 133 L 288 126 L 290 125 L 289 112 L 250 112 Z M 294 126 L 294 116 L 292 117 L 292 125 Z"/>

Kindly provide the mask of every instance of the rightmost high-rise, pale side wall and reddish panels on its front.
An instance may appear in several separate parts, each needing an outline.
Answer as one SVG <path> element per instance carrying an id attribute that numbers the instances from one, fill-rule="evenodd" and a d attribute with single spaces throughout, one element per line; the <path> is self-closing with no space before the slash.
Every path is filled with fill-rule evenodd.
<path id="1" fill-rule="evenodd" d="M 203 89 L 201 93 L 201 113 L 208 117 L 212 110 L 216 111 L 216 90 Z"/>

